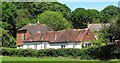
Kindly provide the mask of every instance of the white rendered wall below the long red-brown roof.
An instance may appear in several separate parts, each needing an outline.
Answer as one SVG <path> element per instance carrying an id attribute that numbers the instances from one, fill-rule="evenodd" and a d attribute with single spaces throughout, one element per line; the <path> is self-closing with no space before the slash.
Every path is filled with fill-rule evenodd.
<path id="1" fill-rule="evenodd" d="M 53 48 L 53 49 L 59 49 L 61 48 L 61 45 L 65 45 L 65 48 L 82 48 L 82 42 L 70 42 L 70 43 L 49 43 L 49 42 L 31 42 L 29 44 L 27 43 L 24 43 L 23 45 L 23 49 L 27 49 L 27 48 L 32 48 L 32 49 L 35 49 L 35 44 L 37 45 L 37 50 L 40 50 L 40 49 L 45 49 L 45 45 L 46 45 L 46 49 L 49 49 L 49 48 Z M 73 47 L 74 46 L 74 47 Z M 18 48 L 18 47 L 17 47 Z M 20 47 L 21 48 L 21 47 Z"/>

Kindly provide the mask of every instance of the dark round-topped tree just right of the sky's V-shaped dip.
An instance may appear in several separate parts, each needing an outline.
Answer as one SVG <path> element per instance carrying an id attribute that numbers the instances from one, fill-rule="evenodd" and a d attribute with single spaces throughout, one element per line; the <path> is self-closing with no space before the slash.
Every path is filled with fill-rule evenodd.
<path id="1" fill-rule="evenodd" d="M 71 21 L 74 28 L 86 27 L 87 11 L 84 8 L 77 8 L 71 14 Z"/>

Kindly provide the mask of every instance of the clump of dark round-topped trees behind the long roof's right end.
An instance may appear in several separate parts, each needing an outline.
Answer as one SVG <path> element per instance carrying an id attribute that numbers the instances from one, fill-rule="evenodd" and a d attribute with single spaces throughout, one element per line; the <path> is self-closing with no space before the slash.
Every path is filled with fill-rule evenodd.
<path id="1" fill-rule="evenodd" d="M 99 12 L 95 9 L 77 8 L 72 11 L 71 21 L 74 28 L 86 28 L 88 23 L 99 22 Z"/>

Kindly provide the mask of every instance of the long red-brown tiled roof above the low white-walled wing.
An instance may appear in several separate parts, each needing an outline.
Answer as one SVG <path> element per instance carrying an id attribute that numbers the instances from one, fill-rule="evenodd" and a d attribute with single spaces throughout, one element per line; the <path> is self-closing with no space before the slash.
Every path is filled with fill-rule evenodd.
<path id="1" fill-rule="evenodd" d="M 86 34 L 86 29 L 70 29 L 63 31 L 49 31 L 46 33 L 32 34 L 25 42 L 48 41 L 48 42 L 78 42 Z"/>

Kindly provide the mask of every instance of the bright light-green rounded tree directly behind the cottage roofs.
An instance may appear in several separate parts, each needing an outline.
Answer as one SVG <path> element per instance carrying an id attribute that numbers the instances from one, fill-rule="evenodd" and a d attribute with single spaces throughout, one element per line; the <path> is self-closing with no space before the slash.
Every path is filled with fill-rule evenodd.
<path id="1" fill-rule="evenodd" d="M 45 11 L 37 16 L 37 21 L 53 28 L 54 30 L 63 30 L 71 28 L 72 25 L 59 12 Z"/>

